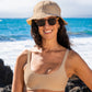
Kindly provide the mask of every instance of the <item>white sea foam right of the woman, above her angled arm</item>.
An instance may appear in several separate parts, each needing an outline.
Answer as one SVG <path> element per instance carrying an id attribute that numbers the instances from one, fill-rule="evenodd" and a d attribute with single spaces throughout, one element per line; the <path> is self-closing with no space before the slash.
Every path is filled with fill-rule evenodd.
<path id="1" fill-rule="evenodd" d="M 92 37 L 71 38 L 72 48 L 92 69 Z"/>

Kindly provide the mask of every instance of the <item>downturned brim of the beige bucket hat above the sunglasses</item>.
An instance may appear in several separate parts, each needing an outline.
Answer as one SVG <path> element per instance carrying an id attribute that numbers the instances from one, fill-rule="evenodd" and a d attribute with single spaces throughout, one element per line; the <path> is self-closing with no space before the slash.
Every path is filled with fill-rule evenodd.
<path id="1" fill-rule="evenodd" d="M 58 16 L 58 15 L 53 15 L 53 14 L 38 14 L 38 15 L 33 15 L 32 18 L 27 19 L 26 22 L 28 25 L 32 25 L 32 20 L 39 20 L 39 19 L 44 19 L 46 16 Z M 61 18 L 59 16 L 62 21 L 64 21 L 64 24 L 67 25 L 68 23 Z"/>

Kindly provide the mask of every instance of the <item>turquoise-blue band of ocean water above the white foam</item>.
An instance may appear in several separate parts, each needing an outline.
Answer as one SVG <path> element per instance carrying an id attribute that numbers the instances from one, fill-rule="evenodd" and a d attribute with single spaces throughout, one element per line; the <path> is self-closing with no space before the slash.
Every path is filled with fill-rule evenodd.
<path id="1" fill-rule="evenodd" d="M 92 36 L 92 19 L 65 19 L 69 36 Z M 31 38 L 31 26 L 26 19 L 0 19 L 0 42 L 25 41 Z"/>

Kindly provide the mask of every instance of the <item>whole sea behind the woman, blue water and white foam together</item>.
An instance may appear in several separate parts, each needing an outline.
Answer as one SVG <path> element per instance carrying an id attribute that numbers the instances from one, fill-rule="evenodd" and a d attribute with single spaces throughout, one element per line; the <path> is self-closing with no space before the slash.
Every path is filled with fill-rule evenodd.
<path id="1" fill-rule="evenodd" d="M 66 18 L 72 48 L 92 69 L 92 18 Z M 16 57 L 34 46 L 26 19 L 0 19 L 0 58 L 14 70 Z"/>

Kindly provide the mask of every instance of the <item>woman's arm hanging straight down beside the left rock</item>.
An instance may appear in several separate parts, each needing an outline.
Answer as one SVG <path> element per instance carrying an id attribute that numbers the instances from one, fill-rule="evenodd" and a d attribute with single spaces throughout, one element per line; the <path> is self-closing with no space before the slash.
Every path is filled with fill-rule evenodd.
<path id="1" fill-rule="evenodd" d="M 13 74 L 12 92 L 23 92 L 24 89 L 24 71 L 23 67 L 27 60 L 27 50 L 23 51 L 16 59 Z"/>

